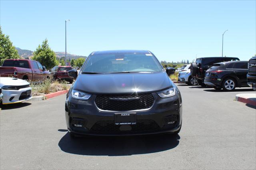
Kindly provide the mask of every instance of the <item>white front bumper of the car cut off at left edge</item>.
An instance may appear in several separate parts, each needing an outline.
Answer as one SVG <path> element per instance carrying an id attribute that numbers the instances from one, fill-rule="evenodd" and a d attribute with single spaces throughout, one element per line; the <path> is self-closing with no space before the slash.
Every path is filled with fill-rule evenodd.
<path id="1" fill-rule="evenodd" d="M 29 91 L 29 90 L 30 90 L 30 93 L 25 95 L 26 91 Z M 32 90 L 31 87 L 26 87 L 19 90 L 2 89 L 2 94 L 3 94 L 2 104 L 6 105 L 6 104 L 13 104 L 13 103 L 19 103 L 22 101 L 27 101 L 32 98 L 31 90 Z"/>

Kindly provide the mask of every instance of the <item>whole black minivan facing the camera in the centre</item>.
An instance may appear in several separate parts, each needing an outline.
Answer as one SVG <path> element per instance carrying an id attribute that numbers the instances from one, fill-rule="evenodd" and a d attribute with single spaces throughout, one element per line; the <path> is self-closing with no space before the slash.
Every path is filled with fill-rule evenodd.
<path id="1" fill-rule="evenodd" d="M 150 51 L 96 51 L 78 75 L 68 73 L 76 79 L 65 103 L 71 137 L 180 132 L 180 91 Z"/>

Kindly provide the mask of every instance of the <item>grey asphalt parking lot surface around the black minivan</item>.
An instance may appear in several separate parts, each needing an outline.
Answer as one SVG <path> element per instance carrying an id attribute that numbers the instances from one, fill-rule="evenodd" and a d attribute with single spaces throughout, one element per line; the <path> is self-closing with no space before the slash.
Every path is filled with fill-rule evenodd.
<path id="1" fill-rule="evenodd" d="M 65 95 L 0 111 L 0 169 L 256 169 L 256 109 L 238 93 L 178 84 L 177 136 L 90 137 L 66 130 Z"/>

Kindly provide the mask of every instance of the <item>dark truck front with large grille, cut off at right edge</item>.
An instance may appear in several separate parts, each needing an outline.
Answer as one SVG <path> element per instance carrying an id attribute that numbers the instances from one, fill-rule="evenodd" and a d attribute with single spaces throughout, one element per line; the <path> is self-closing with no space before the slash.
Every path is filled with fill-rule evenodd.
<path id="1" fill-rule="evenodd" d="M 247 83 L 256 91 L 256 56 L 249 60 L 248 69 Z"/>

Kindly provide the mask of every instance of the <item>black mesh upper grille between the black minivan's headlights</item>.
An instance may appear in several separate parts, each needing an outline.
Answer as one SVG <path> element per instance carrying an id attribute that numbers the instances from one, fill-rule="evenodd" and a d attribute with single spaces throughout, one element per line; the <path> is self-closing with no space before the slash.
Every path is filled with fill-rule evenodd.
<path id="1" fill-rule="evenodd" d="M 149 109 L 154 103 L 152 93 L 138 95 L 97 95 L 95 104 L 104 111 L 135 111 Z"/>

